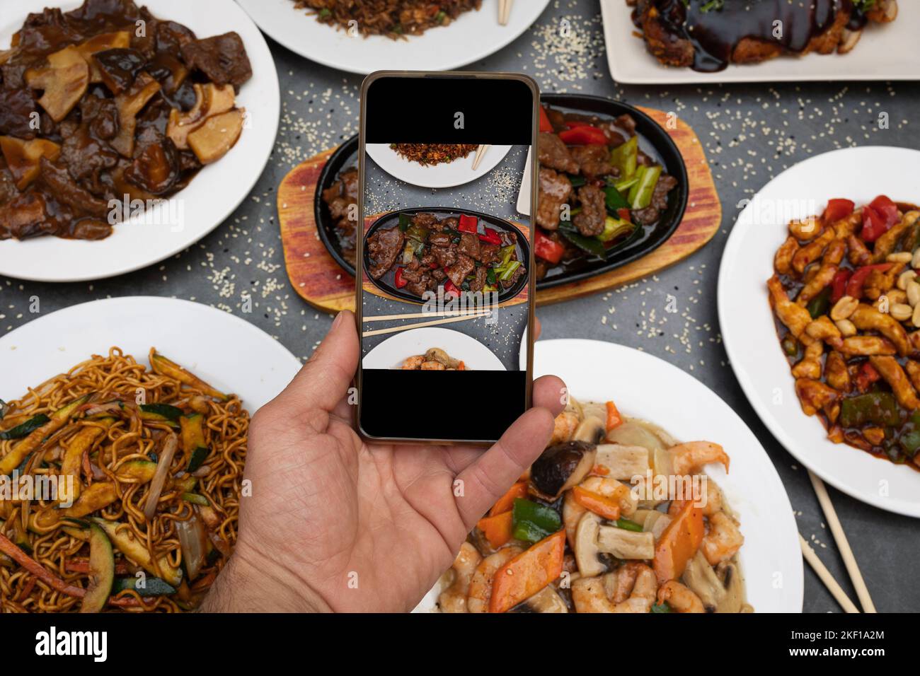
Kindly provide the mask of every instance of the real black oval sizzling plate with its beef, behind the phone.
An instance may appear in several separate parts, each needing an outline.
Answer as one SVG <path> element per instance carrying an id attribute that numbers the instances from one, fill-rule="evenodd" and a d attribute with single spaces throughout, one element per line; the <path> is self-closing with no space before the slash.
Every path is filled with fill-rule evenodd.
<path id="1" fill-rule="evenodd" d="M 541 139 L 545 145 L 551 144 L 546 146 L 545 155 L 551 153 L 550 161 L 558 168 L 547 166 L 552 174 L 543 172 L 545 190 L 541 191 L 540 202 L 543 215 L 538 209 L 532 219 L 537 223 L 537 289 L 603 274 L 661 246 L 681 223 L 689 192 L 680 151 L 668 133 L 645 113 L 604 97 L 549 94 L 541 100 L 546 115 L 543 132 L 546 135 Z M 590 128 L 599 129 L 603 140 Z M 571 131 L 575 133 L 567 133 Z M 581 143 L 592 140 L 597 143 Z M 627 147 L 615 153 L 623 145 Z M 349 201 L 357 199 L 357 182 L 352 180 L 357 177 L 352 173 L 357 166 L 357 153 L 357 136 L 339 146 L 320 174 L 314 201 L 319 237 L 329 255 L 351 275 L 355 270 L 354 227 L 342 214 L 346 213 Z M 625 164 L 615 167 L 614 162 Z M 623 166 L 632 168 L 623 171 Z M 645 184 L 646 197 L 657 197 L 657 206 L 651 202 L 645 205 L 642 200 L 636 204 L 644 207 L 633 210 L 631 203 L 616 199 L 614 190 L 617 193 L 619 190 L 615 186 L 619 184 L 622 189 L 620 199 L 628 200 L 632 187 L 640 182 L 637 174 L 646 172 L 648 167 L 655 168 Z M 656 196 L 654 189 L 659 184 Z M 580 217 L 585 211 L 580 192 L 589 185 L 592 189 L 584 193 L 586 201 L 590 201 L 589 212 Z M 597 199 L 598 191 L 604 194 L 603 207 Z M 546 201 L 546 197 L 554 201 Z M 634 197 L 638 200 L 638 189 Z M 558 210 L 563 203 L 569 204 L 571 221 L 552 223 L 546 211 Z M 627 209 L 628 216 L 623 209 Z M 604 222 L 600 235 L 584 235 L 597 229 L 598 220 Z M 609 229 L 608 225 L 618 230 Z"/>

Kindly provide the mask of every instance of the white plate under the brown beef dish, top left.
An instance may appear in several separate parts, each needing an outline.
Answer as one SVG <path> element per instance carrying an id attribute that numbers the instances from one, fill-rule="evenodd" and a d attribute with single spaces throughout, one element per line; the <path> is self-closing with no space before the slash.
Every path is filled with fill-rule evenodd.
<path id="1" fill-rule="evenodd" d="M 69 0 L 71 10 L 81 3 Z M 140 4 L 140 3 L 139 3 Z M 248 113 L 247 128 L 233 149 L 204 167 L 189 187 L 169 198 L 169 209 L 156 207 L 144 216 L 114 226 L 98 242 L 37 237 L 0 242 L 0 275 L 30 281 L 87 281 L 132 272 L 193 245 L 234 212 L 256 185 L 269 161 L 278 132 L 281 96 L 269 47 L 246 12 L 232 0 L 145 0 L 155 17 L 178 21 L 199 38 L 236 30 L 252 78 L 240 88 L 237 105 Z M 57 6 L 50 0 L 18 0 L 0 18 L 0 46 L 6 48 L 29 12 Z"/>

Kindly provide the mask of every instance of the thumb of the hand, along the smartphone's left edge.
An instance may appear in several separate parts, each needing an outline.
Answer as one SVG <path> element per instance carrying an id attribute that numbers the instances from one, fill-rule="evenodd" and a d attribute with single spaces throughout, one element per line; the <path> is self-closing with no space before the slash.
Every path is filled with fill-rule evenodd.
<path id="1" fill-rule="evenodd" d="M 342 310 L 313 356 L 277 398 L 300 410 L 331 412 L 351 387 L 359 351 L 354 315 Z"/>

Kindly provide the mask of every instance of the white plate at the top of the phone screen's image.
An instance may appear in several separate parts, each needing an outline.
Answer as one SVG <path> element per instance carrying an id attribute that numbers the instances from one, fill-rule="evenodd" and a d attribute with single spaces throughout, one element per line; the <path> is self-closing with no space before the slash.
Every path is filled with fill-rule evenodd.
<path id="1" fill-rule="evenodd" d="M 476 151 L 453 162 L 421 166 L 418 162 L 409 162 L 399 155 L 390 148 L 389 143 L 366 143 L 364 147 L 367 148 L 367 154 L 371 155 L 371 159 L 387 174 L 422 188 L 453 188 L 476 180 L 498 166 L 512 149 L 510 145 L 493 145 L 486 151 L 486 156 L 479 162 L 479 166 L 474 169 Z"/>

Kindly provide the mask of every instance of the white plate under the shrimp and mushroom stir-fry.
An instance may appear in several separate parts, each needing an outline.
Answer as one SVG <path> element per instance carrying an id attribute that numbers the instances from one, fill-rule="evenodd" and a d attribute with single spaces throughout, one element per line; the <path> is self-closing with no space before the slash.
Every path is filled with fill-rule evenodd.
<path id="1" fill-rule="evenodd" d="M 624 415 L 649 420 L 676 439 L 721 444 L 731 458 L 730 474 L 721 465 L 706 471 L 741 520 L 747 600 L 756 613 L 801 613 L 804 580 L 792 507 L 770 458 L 738 414 L 667 361 L 600 340 L 537 341 L 534 377 L 549 373 L 580 401 L 613 400 Z M 438 591 L 416 610 L 433 610 Z"/>

